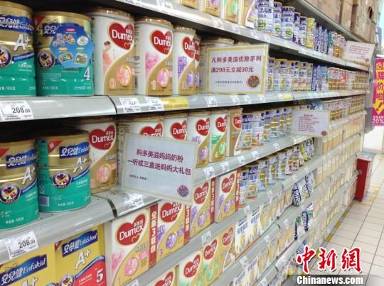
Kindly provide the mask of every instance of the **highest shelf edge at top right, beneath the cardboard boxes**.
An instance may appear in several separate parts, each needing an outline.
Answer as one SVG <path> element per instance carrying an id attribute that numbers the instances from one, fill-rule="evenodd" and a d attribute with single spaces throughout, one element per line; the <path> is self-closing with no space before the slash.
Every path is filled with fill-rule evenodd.
<path id="1" fill-rule="evenodd" d="M 335 30 L 338 33 L 342 33 L 346 40 L 354 40 L 356 42 L 362 42 L 360 38 L 353 35 L 346 28 L 343 28 L 339 23 L 335 22 L 329 16 L 326 16 L 323 12 L 319 11 L 315 6 L 307 2 L 306 0 L 289 0 L 287 4 L 294 6 L 294 8 L 307 17 L 316 18 L 316 23 L 320 23 L 328 29 Z"/>

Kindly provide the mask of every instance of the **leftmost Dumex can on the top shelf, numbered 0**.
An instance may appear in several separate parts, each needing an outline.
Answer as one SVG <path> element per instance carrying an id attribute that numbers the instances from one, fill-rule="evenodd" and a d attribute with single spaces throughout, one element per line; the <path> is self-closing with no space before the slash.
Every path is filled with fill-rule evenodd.
<path id="1" fill-rule="evenodd" d="M 95 43 L 95 94 L 134 94 L 134 18 L 124 11 L 97 7 L 92 18 Z"/>

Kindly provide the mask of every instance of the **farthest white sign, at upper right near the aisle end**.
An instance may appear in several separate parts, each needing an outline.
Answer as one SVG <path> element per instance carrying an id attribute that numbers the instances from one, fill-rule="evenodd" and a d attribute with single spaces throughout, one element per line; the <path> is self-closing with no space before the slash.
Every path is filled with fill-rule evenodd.
<path id="1" fill-rule="evenodd" d="M 343 60 L 358 62 L 362 65 L 369 65 L 375 50 L 375 45 L 368 43 L 359 43 L 348 40 L 346 48 L 343 50 Z"/>

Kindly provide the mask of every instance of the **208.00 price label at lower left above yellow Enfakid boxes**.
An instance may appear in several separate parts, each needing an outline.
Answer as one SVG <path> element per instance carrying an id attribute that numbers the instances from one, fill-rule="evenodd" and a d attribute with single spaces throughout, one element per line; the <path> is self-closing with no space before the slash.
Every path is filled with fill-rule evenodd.
<path id="1" fill-rule="evenodd" d="M 38 241 L 33 231 L 5 239 L 4 244 L 10 260 L 38 248 Z"/>

